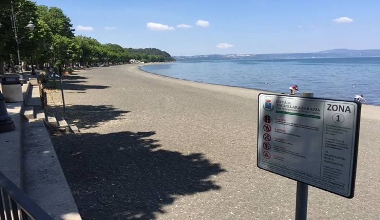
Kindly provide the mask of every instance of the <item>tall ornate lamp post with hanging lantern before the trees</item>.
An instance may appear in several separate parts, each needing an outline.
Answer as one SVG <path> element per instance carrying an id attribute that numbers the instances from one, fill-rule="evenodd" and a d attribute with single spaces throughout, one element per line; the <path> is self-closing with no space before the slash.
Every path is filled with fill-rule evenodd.
<path id="1" fill-rule="evenodd" d="M 20 82 L 21 83 L 25 83 L 26 80 L 24 78 L 24 74 L 23 74 L 23 69 L 22 69 L 22 66 L 21 66 L 21 58 L 20 58 L 20 37 L 18 37 L 17 35 L 17 31 L 18 31 L 18 28 L 17 28 L 17 15 L 18 13 L 21 13 L 23 11 L 18 11 L 16 13 L 14 13 L 14 10 L 13 10 L 13 2 L 11 1 L 11 10 L 0 10 L 0 11 L 5 11 L 9 14 L 9 17 L 11 18 L 11 25 L 12 25 L 12 30 L 13 30 L 13 33 L 14 33 L 14 39 L 16 40 L 16 44 L 17 44 L 17 57 L 18 57 L 18 74 L 20 74 Z M 0 28 L 2 27 L 3 25 L 0 25 Z M 33 31 L 34 28 L 35 28 L 35 25 L 33 24 L 33 22 L 30 20 L 28 25 L 26 26 L 26 28 L 28 28 L 30 31 Z"/>

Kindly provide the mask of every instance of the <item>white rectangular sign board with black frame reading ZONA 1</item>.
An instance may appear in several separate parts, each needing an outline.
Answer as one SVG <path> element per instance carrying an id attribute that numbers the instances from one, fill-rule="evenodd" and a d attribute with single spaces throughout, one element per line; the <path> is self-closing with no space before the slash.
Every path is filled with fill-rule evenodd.
<path id="1" fill-rule="evenodd" d="M 360 103 L 260 94 L 257 166 L 352 198 Z"/>

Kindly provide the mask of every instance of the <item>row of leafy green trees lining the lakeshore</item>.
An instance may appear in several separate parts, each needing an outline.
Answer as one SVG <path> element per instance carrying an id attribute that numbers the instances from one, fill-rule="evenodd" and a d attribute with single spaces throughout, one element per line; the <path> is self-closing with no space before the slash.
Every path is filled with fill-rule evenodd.
<path id="1" fill-rule="evenodd" d="M 145 62 L 175 61 L 170 54 L 155 49 L 123 48 L 115 44 L 102 44 L 86 36 L 74 36 L 70 18 L 56 7 L 36 5 L 29 0 L 14 0 L 17 14 L 18 37 L 21 39 L 21 59 L 26 63 L 32 61 L 37 66 L 52 62 L 56 66 L 79 62 L 90 65 L 95 63 L 125 63 L 130 59 Z M 0 8 L 10 10 L 11 2 L 0 2 Z M 25 29 L 29 19 L 35 24 L 34 31 Z M 0 13 L 0 74 L 3 63 L 14 66 L 17 61 L 16 42 L 12 31 L 11 19 L 7 13 Z"/>

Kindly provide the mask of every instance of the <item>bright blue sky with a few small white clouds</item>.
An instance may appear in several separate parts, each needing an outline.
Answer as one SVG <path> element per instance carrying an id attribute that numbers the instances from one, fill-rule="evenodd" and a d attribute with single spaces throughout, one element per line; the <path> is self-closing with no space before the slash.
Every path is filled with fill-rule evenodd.
<path id="1" fill-rule="evenodd" d="M 38 0 L 75 35 L 170 55 L 380 49 L 380 1 Z"/>

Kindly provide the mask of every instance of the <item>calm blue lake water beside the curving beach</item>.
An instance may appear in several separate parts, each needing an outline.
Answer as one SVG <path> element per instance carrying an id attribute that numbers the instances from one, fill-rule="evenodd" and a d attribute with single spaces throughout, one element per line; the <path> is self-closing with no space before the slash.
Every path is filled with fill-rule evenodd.
<path id="1" fill-rule="evenodd" d="M 353 100 L 364 94 L 367 104 L 380 105 L 380 57 L 287 60 L 186 61 L 144 65 L 142 70 L 198 82 L 234 85 L 315 97 Z"/>

